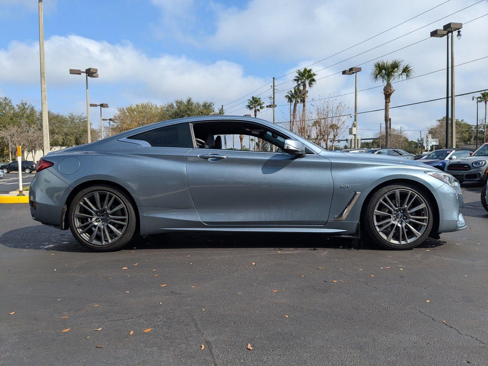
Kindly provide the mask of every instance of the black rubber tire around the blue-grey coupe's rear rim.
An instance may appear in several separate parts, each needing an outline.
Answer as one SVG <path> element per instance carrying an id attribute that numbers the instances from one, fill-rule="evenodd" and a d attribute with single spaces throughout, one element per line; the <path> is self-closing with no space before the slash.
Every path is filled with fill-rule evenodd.
<path id="1" fill-rule="evenodd" d="M 89 195 L 91 193 L 95 193 L 95 192 L 99 192 L 99 194 L 102 194 L 102 195 L 107 194 L 107 193 L 110 195 L 113 195 L 116 197 L 117 200 L 119 200 L 121 203 L 123 203 L 125 205 L 124 209 L 126 210 L 126 220 L 127 220 L 126 225 L 125 225 L 123 231 L 121 231 L 121 233 L 122 233 L 121 236 L 117 237 L 115 239 L 113 238 L 113 243 L 103 244 L 104 243 L 103 239 L 101 239 L 102 244 L 91 243 L 89 240 L 84 238 L 77 231 L 76 219 L 75 219 L 75 213 L 77 210 L 77 206 L 80 203 L 80 201 L 83 200 L 84 197 L 86 197 L 87 195 Z M 108 196 L 108 194 L 107 194 L 107 196 Z M 102 211 L 100 212 L 100 214 L 97 214 L 97 215 L 103 215 Z M 101 217 L 102 216 L 99 216 L 99 219 Z M 106 214 L 106 217 L 107 218 L 105 220 L 108 221 L 109 212 Z M 89 221 L 88 219 L 86 219 L 86 220 Z M 102 220 L 99 220 L 99 221 L 102 221 Z M 98 184 L 98 185 L 93 185 L 93 186 L 82 189 L 73 198 L 73 201 L 71 202 L 69 209 L 68 209 L 68 223 L 69 223 L 69 228 L 71 230 L 71 233 L 73 234 L 75 239 L 80 244 L 82 244 L 83 246 L 85 246 L 85 247 L 87 247 L 93 251 L 109 252 L 109 251 L 115 251 L 115 250 L 122 249 L 123 246 L 125 246 L 127 243 L 129 243 L 132 240 L 134 233 L 136 231 L 136 214 L 135 214 L 134 206 L 133 206 L 131 200 L 129 199 L 129 197 L 127 197 L 127 195 L 122 190 L 120 190 L 116 187 L 110 186 L 110 185 Z M 92 224 L 90 224 L 89 226 L 92 226 Z M 97 225 L 97 227 L 98 227 L 98 225 Z M 107 227 L 108 227 L 108 222 L 107 222 Z M 96 229 L 98 230 L 98 228 L 96 228 Z M 89 232 L 93 233 L 93 231 L 95 231 L 95 230 L 91 230 Z M 99 235 L 98 231 L 97 231 L 97 233 L 95 233 L 95 238 L 98 237 L 97 235 Z"/>

